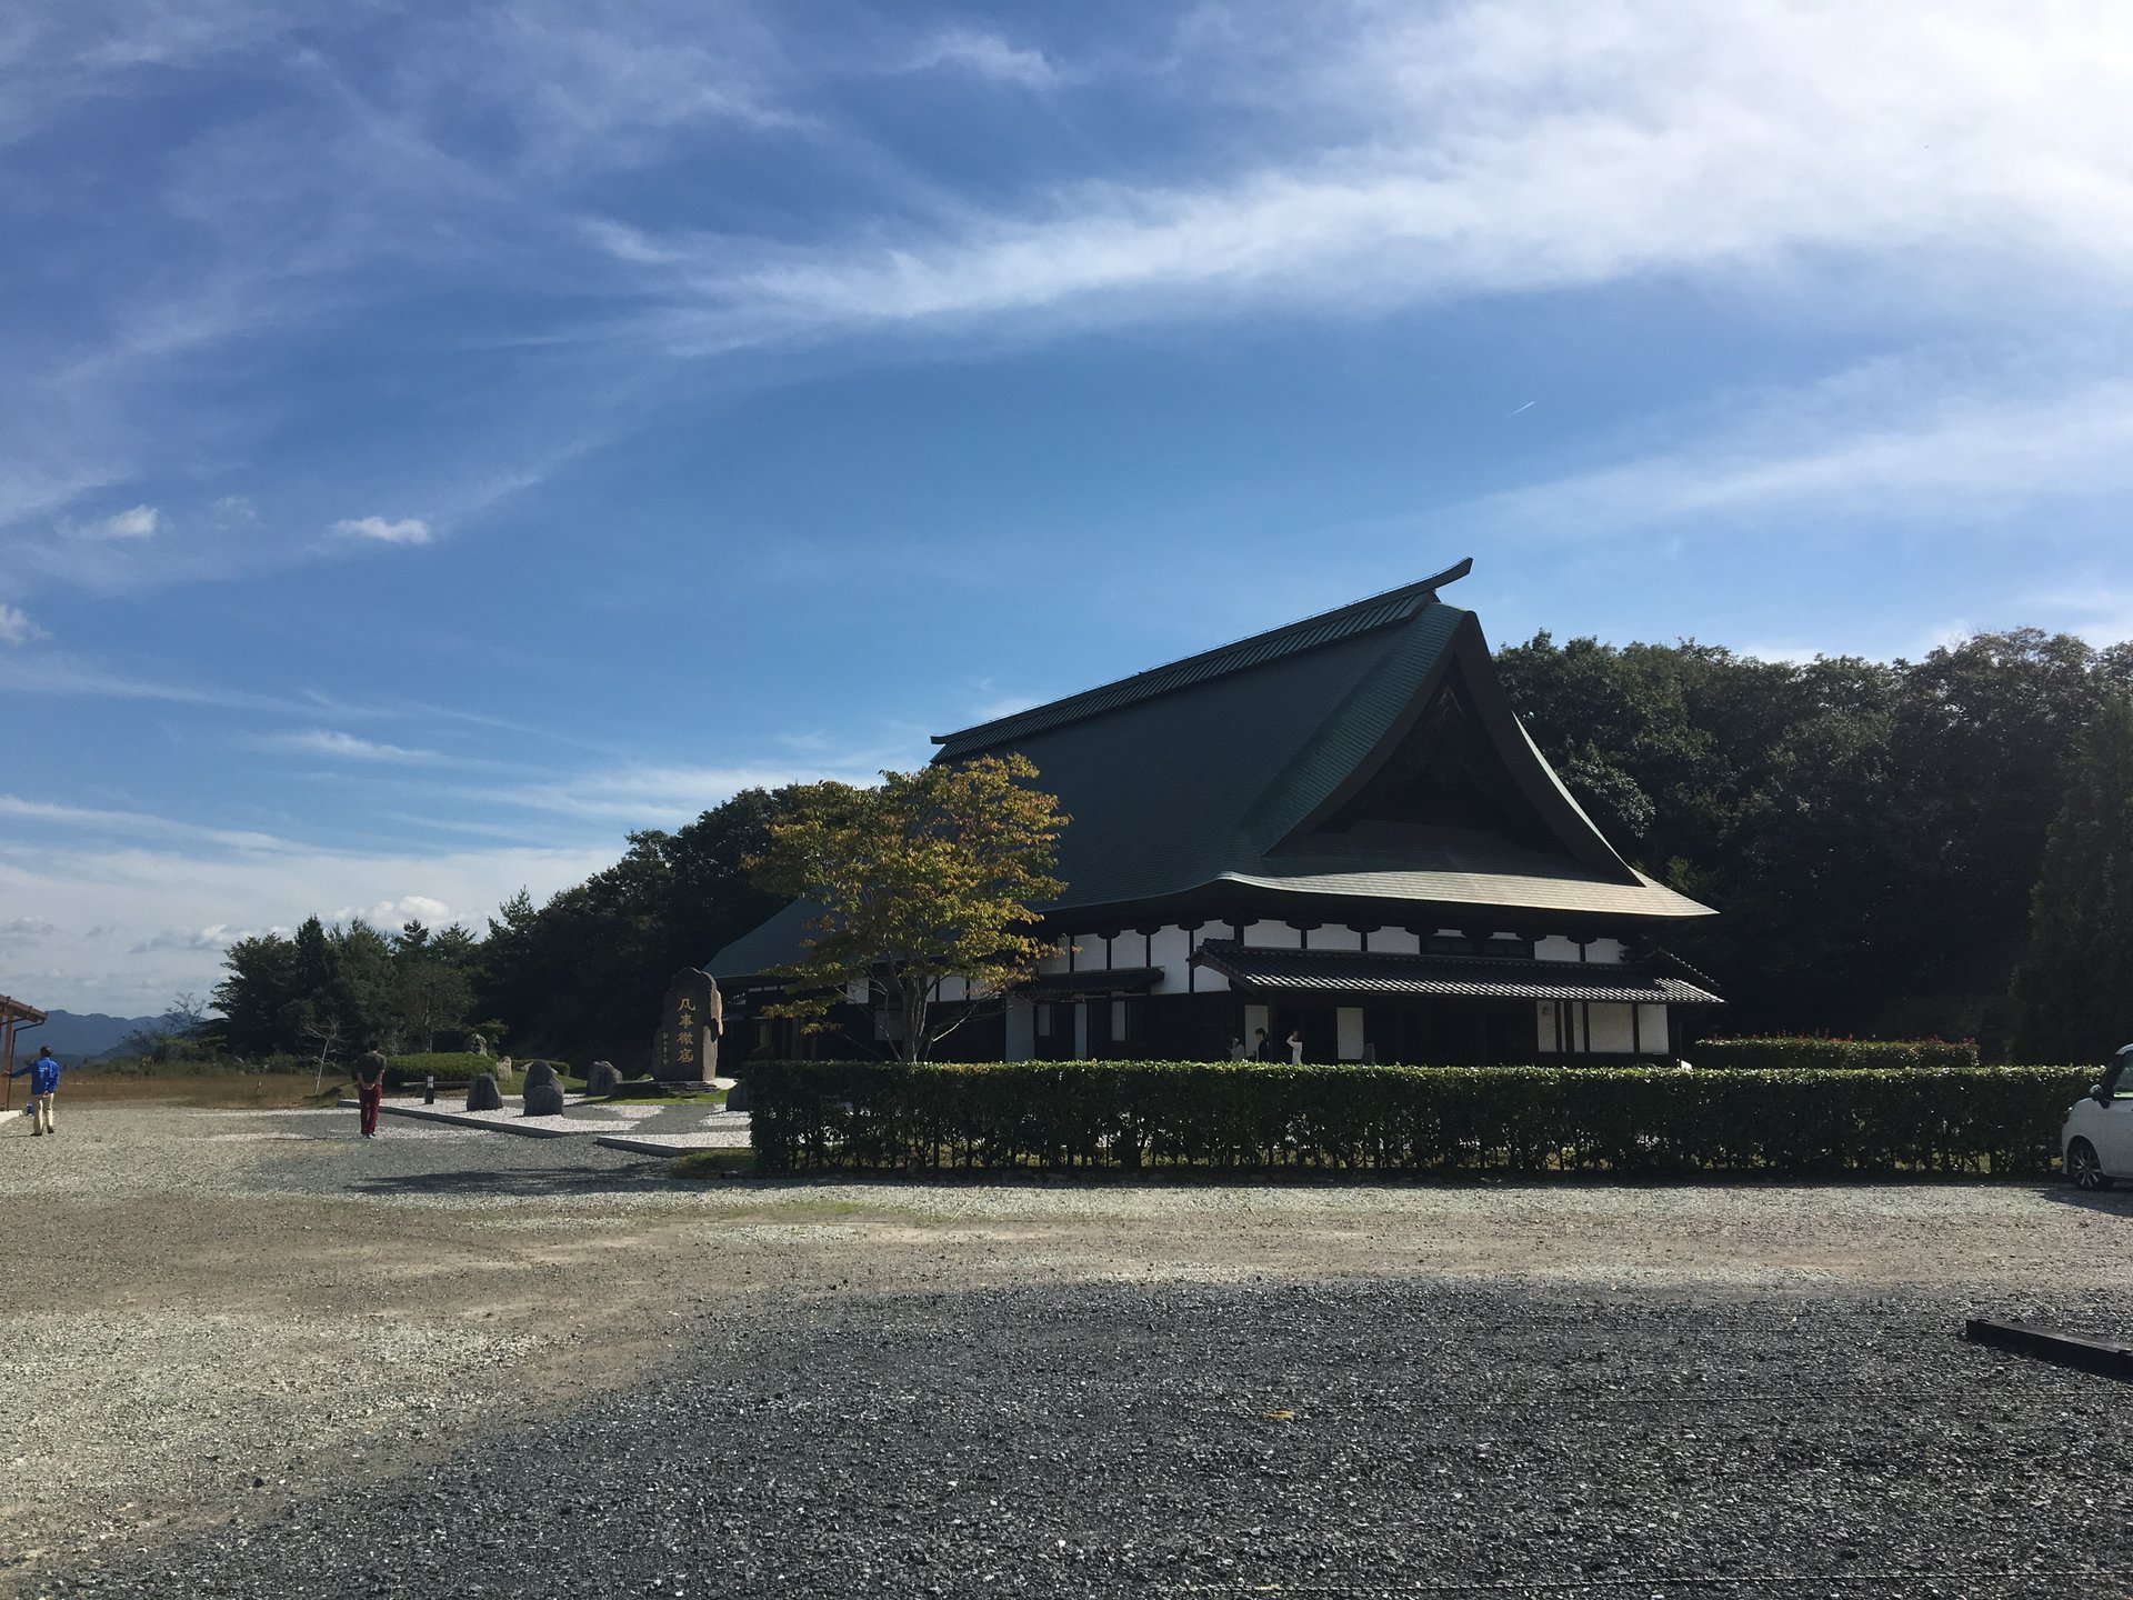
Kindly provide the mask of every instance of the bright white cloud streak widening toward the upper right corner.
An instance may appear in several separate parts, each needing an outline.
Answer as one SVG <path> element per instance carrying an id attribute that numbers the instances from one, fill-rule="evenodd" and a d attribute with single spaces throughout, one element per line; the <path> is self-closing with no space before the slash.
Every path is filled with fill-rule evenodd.
<path id="1" fill-rule="evenodd" d="M 700 350 L 1073 311 L 1378 309 L 1655 273 L 1760 279 L 1851 252 L 1930 297 L 1950 273 L 2107 292 L 2133 265 L 2122 28 L 2071 6 L 1932 13 L 1354 9 L 1284 85 L 1278 154 L 1084 183 L 749 262 L 704 239 L 672 288 Z M 2071 26 L 2071 17 L 2090 26 Z M 1903 60 L 1903 73 L 1883 62 Z M 2084 115 L 2063 115 L 2065 105 Z M 1303 126 L 1303 113 L 1314 126 Z"/>

